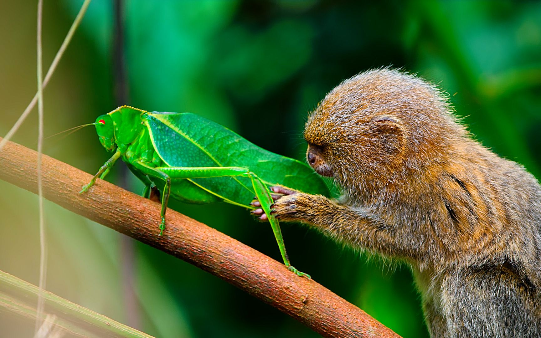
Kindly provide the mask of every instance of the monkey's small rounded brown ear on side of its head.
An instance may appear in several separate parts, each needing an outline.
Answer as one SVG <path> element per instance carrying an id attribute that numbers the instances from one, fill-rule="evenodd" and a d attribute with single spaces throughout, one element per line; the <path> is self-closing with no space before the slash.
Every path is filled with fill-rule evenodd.
<path id="1" fill-rule="evenodd" d="M 389 154 L 402 154 L 406 149 L 407 134 L 398 118 L 379 115 L 372 119 L 373 128 L 381 146 Z"/>

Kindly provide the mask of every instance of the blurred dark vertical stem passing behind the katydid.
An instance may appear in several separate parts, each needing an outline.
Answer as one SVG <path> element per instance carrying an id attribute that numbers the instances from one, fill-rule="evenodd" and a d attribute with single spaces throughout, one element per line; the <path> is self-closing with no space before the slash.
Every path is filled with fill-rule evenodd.
<path id="1" fill-rule="evenodd" d="M 126 57 L 124 53 L 124 3 L 122 0 L 114 1 L 114 41 L 113 41 L 113 76 L 116 105 L 128 104 L 128 84 L 126 74 Z M 128 188 L 129 175 L 126 165 L 122 165 L 123 188 Z M 135 299 L 135 243 L 128 236 L 120 237 L 121 247 L 121 274 L 124 282 L 124 308 L 126 309 L 127 324 L 131 327 L 140 327 L 138 303 Z"/>

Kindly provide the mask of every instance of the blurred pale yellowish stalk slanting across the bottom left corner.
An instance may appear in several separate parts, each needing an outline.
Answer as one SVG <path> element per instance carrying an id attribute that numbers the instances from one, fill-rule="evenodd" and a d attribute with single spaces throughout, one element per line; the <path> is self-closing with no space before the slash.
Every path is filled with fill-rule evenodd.
<path id="1" fill-rule="evenodd" d="M 36 320 L 39 288 L 4 271 L 0 271 L 0 309 Z M 43 291 L 45 316 L 50 329 L 60 328 L 70 336 L 98 338 L 152 338 L 134 328 L 72 303 L 48 291 Z M 45 322 L 48 322 L 45 319 Z M 39 335 L 38 335 L 39 336 Z M 49 336 L 43 334 L 41 336 Z M 52 336 L 52 335 L 51 335 Z"/>

